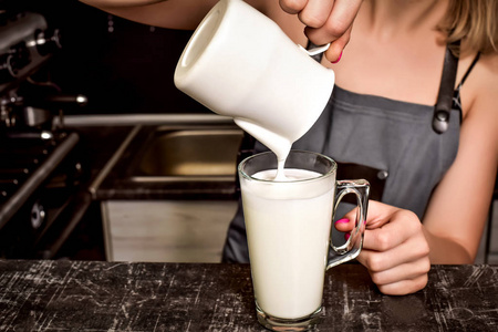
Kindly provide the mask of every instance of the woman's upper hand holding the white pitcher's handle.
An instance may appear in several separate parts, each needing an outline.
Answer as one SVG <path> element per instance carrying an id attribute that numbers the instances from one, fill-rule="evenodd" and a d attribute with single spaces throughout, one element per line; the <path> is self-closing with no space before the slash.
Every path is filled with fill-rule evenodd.
<path id="1" fill-rule="evenodd" d="M 362 0 L 279 0 L 288 13 L 298 14 L 304 33 L 317 45 L 331 43 L 325 58 L 339 62 L 350 41 L 351 29 Z"/>

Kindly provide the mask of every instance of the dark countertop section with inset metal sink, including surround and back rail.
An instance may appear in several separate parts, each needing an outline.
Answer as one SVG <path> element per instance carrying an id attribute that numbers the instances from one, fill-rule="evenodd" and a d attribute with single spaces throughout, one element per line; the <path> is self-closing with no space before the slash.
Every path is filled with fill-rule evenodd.
<path id="1" fill-rule="evenodd" d="M 123 117 L 104 123 L 129 132 L 91 184 L 93 199 L 238 198 L 237 155 L 245 135 L 231 118 L 216 114 Z"/>

